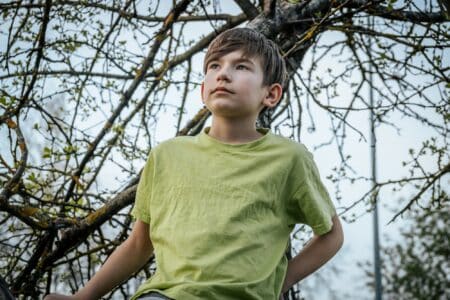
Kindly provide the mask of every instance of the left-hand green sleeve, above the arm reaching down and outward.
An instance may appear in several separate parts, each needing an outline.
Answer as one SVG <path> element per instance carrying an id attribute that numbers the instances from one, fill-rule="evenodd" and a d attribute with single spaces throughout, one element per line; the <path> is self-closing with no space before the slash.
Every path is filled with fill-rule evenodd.
<path id="1" fill-rule="evenodd" d="M 136 200 L 131 215 L 144 223 L 150 224 L 150 201 L 155 173 L 153 153 L 150 153 L 142 170 L 136 191 Z"/>

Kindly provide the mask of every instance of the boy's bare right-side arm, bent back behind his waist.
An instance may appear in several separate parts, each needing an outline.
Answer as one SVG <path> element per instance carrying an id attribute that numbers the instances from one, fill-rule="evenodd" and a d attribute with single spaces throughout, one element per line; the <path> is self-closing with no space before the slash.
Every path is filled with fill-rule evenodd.
<path id="1" fill-rule="evenodd" d="M 337 215 L 332 220 L 333 228 L 330 232 L 324 235 L 315 235 L 300 253 L 289 261 L 282 293 L 319 269 L 341 248 L 344 242 L 341 222 Z"/>

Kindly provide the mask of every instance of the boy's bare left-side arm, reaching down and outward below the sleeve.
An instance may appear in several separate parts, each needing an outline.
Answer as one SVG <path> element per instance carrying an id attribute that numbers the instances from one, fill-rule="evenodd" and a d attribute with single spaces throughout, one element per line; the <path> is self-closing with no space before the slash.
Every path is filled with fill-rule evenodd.
<path id="1" fill-rule="evenodd" d="M 114 250 L 100 270 L 73 296 L 47 295 L 44 300 L 99 299 L 139 270 L 153 254 L 149 225 L 137 220 L 130 236 Z"/>

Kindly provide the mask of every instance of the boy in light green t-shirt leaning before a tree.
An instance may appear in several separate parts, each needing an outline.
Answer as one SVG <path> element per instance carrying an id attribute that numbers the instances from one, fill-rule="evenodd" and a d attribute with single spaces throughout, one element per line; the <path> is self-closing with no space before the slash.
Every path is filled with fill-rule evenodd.
<path id="1" fill-rule="evenodd" d="M 339 250 L 342 228 L 312 155 L 255 127 L 282 96 L 276 45 L 251 29 L 228 30 L 209 46 L 204 71 L 211 127 L 152 149 L 128 239 L 74 296 L 46 299 L 98 299 L 154 253 L 157 271 L 132 299 L 276 300 Z M 297 223 L 315 236 L 288 262 Z"/>

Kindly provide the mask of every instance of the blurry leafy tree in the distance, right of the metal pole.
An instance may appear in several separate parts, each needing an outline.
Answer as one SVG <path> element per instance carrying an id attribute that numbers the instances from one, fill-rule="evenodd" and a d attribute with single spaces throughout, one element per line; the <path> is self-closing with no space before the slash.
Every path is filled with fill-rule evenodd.
<path id="1" fill-rule="evenodd" d="M 383 249 L 383 287 L 386 299 L 444 299 L 450 295 L 450 213 L 438 209 L 408 211 L 410 225 L 401 230 L 401 242 Z M 365 266 L 370 266 L 366 263 Z M 369 287 L 373 274 L 366 268 Z"/>

